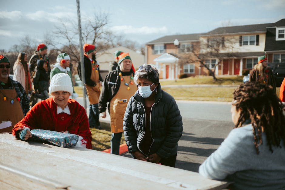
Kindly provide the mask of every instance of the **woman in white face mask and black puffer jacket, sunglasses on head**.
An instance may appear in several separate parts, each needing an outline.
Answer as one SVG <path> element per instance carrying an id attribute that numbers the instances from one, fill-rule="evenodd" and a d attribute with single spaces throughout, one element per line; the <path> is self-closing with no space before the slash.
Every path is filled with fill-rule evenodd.
<path id="1" fill-rule="evenodd" d="M 129 152 L 139 160 L 175 167 L 183 131 L 178 106 L 161 89 L 155 66 L 140 66 L 134 82 L 139 89 L 129 100 L 123 122 Z"/>

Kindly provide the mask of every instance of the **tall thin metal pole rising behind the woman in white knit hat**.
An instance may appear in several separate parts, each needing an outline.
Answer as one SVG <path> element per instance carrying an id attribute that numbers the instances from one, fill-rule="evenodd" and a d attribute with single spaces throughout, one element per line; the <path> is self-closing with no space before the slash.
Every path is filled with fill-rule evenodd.
<path id="1" fill-rule="evenodd" d="M 85 86 L 85 70 L 84 70 L 84 55 L 83 55 L 83 45 L 82 45 L 82 33 L 81 33 L 81 16 L 80 16 L 80 3 L 76 0 L 77 5 L 77 18 L 78 18 L 78 34 L 79 34 L 79 46 L 80 46 L 80 62 L 81 62 L 81 80 L 82 80 L 82 91 L 83 91 L 83 104 L 85 111 L 87 113 L 87 103 L 86 103 L 86 86 Z"/>

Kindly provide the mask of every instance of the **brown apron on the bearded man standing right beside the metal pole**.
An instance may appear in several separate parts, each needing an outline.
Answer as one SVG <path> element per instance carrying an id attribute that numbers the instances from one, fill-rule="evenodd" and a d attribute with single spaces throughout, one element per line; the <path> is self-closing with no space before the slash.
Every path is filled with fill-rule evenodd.
<path id="1" fill-rule="evenodd" d="M 99 65 L 92 64 L 92 71 L 90 79 L 96 83 L 96 86 L 86 85 L 86 91 L 89 98 L 90 104 L 98 104 L 100 96 L 100 82 L 99 82 L 99 70 L 97 69 Z"/>

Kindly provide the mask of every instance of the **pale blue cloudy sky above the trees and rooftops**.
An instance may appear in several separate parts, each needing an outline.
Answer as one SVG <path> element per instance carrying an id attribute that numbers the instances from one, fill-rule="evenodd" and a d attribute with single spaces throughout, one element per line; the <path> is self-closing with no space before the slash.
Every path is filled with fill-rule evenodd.
<path id="1" fill-rule="evenodd" d="M 1 0 L 3 2 L 4 0 Z M 81 15 L 109 14 L 109 29 L 145 44 L 165 35 L 203 33 L 221 26 L 276 22 L 285 0 L 81 0 Z M 58 18 L 77 19 L 76 0 L 8 0 L 1 3 L 0 49 L 25 35 L 42 43 Z"/>

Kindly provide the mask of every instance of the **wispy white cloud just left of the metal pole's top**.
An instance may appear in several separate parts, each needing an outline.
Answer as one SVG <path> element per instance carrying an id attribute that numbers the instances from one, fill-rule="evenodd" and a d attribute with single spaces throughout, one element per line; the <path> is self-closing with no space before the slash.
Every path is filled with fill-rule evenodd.
<path id="1" fill-rule="evenodd" d="M 37 20 L 37 21 L 44 21 L 48 20 L 49 22 L 58 22 L 58 18 L 76 18 L 77 15 L 75 13 L 71 12 L 55 12 L 55 13 L 49 13 L 45 11 L 37 11 L 34 13 L 28 13 L 26 16 L 31 20 Z"/>

